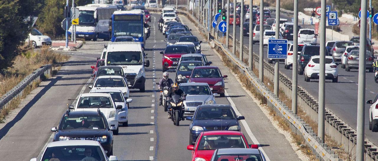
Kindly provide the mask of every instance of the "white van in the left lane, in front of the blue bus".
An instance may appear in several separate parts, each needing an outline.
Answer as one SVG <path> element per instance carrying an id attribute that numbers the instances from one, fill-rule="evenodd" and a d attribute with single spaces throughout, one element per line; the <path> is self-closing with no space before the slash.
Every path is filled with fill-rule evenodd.
<path id="1" fill-rule="evenodd" d="M 128 87 L 144 92 L 144 83 L 146 82 L 145 67 L 150 66 L 150 61 L 145 60 L 140 42 L 108 43 L 105 65 L 121 66 L 126 75 Z"/>

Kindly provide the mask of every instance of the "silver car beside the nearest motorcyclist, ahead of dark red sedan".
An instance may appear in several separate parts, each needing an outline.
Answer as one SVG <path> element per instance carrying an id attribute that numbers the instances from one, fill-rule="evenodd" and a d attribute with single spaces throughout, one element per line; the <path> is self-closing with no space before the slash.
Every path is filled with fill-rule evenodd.
<path id="1" fill-rule="evenodd" d="M 215 104 L 214 96 L 218 94 L 212 93 L 207 83 L 181 83 L 181 90 L 184 91 L 186 100 L 184 100 L 184 114 L 192 115 L 199 105 Z"/>

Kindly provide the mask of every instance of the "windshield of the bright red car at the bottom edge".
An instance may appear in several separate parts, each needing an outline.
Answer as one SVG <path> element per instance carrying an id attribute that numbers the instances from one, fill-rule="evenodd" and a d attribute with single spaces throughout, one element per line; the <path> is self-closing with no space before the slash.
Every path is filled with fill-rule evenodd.
<path id="1" fill-rule="evenodd" d="M 230 147 L 247 148 L 240 135 L 204 135 L 198 144 L 198 150 L 215 150 Z"/>

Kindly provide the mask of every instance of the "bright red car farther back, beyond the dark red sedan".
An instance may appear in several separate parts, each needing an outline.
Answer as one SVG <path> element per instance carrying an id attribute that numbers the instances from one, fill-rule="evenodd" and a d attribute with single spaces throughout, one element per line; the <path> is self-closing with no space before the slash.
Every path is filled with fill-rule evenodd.
<path id="1" fill-rule="evenodd" d="M 161 62 L 163 63 L 163 72 L 169 69 L 176 69 L 178 61 L 181 55 L 191 53 L 187 45 L 169 45 L 165 51 L 161 51 L 163 54 Z"/>

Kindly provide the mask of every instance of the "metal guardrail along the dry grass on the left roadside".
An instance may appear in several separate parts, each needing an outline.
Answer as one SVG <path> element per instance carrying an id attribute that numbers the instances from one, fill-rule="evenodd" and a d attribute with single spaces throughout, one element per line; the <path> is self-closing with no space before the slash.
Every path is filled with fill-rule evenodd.
<path id="1" fill-rule="evenodd" d="M 35 81 L 39 81 L 42 79 L 43 76 L 50 76 L 51 75 L 51 68 L 52 64 L 48 64 L 34 70 L 33 73 L 26 76 L 19 84 L 13 87 L 10 91 L 4 94 L 0 98 L 0 109 L 4 108 L 12 99 L 17 98 L 22 95 L 23 90 Z"/>

